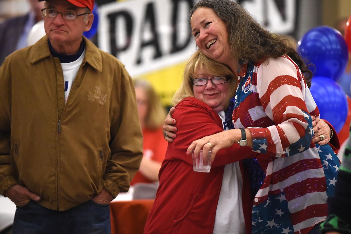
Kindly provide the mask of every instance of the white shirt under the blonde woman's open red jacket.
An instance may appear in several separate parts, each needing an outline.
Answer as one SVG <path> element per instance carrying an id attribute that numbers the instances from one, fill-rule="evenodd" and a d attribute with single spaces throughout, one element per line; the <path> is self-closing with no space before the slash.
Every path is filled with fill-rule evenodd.
<path id="1" fill-rule="evenodd" d="M 218 113 L 224 123 L 224 111 Z M 224 125 L 223 125 L 223 129 Z M 228 130 L 228 129 L 225 129 Z M 233 157 L 235 155 L 228 155 Z M 213 234 L 245 234 L 245 219 L 243 202 L 243 178 L 241 177 L 239 162 L 224 166 L 222 187 L 214 219 Z"/>

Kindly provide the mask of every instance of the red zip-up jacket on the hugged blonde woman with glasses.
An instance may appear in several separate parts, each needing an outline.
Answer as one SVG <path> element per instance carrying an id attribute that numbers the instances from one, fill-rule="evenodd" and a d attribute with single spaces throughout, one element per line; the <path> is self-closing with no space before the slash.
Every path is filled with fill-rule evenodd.
<path id="1" fill-rule="evenodd" d="M 221 189 L 224 166 L 245 158 L 257 157 L 250 147 L 233 144 L 221 149 L 209 173 L 194 172 L 191 155 L 186 154 L 192 141 L 223 130 L 218 114 L 196 98 L 181 101 L 173 113 L 177 119 L 177 138 L 168 143 L 162 163 L 154 205 L 148 215 L 144 234 L 201 233 L 212 234 Z M 251 233 L 252 200 L 249 178 L 243 170 L 243 211 L 246 233 Z"/>

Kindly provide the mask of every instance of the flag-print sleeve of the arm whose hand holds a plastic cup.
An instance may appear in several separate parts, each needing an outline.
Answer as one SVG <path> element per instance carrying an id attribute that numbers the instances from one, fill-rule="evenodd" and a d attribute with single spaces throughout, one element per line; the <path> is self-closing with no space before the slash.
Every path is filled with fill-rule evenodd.
<path id="1" fill-rule="evenodd" d="M 302 77 L 288 56 L 270 58 L 258 66 L 257 93 L 264 112 L 276 125 L 250 128 L 254 151 L 282 157 L 310 147 L 312 120 Z"/>

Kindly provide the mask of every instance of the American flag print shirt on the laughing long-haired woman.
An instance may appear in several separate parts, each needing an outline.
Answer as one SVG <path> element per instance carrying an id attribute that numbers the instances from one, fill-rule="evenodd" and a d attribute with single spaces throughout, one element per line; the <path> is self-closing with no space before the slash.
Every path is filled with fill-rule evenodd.
<path id="1" fill-rule="evenodd" d="M 288 57 L 246 63 L 232 99 L 234 128 L 250 128 L 265 172 L 254 197 L 252 233 L 308 233 L 327 215 L 340 165 L 329 145 L 315 145 L 319 111 L 298 66 Z M 246 73 L 245 73 L 246 71 Z"/>

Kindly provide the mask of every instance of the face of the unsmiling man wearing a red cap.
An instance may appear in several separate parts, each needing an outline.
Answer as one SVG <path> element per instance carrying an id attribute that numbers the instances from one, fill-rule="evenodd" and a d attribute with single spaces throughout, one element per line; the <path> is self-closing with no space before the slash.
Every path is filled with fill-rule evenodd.
<path id="1" fill-rule="evenodd" d="M 49 0 L 45 3 L 45 8 L 50 8 L 58 12 L 74 12 L 76 14 L 86 13 L 86 8 L 77 7 L 66 0 Z M 82 40 L 83 32 L 88 31 L 93 22 L 93 14 L 77 16 L 76 20 L 69 21 L 62 18 L 61 14 L 57 14 L 55 18 L 44 19 L 45 33 L 48 36 L 52 46 L 60 53 L 60 47 L 77 47 L 77 51 Z"/>

